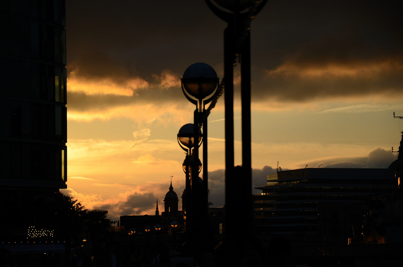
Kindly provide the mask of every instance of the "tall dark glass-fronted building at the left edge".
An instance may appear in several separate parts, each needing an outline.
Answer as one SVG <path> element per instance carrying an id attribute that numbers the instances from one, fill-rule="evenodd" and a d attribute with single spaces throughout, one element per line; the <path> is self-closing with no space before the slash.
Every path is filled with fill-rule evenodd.
<path id="1" fill-rule="evenodd" d="M 0 1 L 0 190 L 7 199 L 66 188 L 64 7 L 64 0 Z"/>

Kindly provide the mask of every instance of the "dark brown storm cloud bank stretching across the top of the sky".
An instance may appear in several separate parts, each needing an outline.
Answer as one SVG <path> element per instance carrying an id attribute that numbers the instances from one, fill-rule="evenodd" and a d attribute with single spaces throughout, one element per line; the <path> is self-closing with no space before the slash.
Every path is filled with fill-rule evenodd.
<path id="1" fill-rule="evenodd" d="M 254 101 L 401 93 L 403 21 L 388 1 L 269 1 L 252 22 Z M 67 1 L 68 71 L 118 84 L 206 62 L 222 75 L 225 23 L 204 1 Z M 158 86 L 107 105 L 182 99 Z M 137 95 L 138 94 L 138 95 Z M 101 101 L 70 96 L 69 107 Z M 90 99 L 96 98 L 96 99 Z M 90 106 L 87 106 L 89 108 Z"/>

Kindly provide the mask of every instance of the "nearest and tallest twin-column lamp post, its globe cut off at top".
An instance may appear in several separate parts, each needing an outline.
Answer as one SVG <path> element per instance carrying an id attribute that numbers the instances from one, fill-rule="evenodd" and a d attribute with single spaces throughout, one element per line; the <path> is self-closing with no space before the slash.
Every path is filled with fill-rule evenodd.
<path id="1" fill-rule="evenodd" d="M 251 201 L 251 66 L 250 23 L 262 10 L 267 0 L 205 0 L 208 7 L 228 26 L 224 30 L 224 82 L 225 82 L 225 216 L 226 237 L 237 237 L 237 214 L 246 213 L 245 227 L 253 225 Z M 215 3 L 214 3 L 214 2 Z M 224 10 L 226 9 L 226 10 Z M 241 63 L 242 105 L 242 169 L 234 170 L 234 96 L 233 66 Z M 235 181 L 234 181 L 235 180 Z"/>

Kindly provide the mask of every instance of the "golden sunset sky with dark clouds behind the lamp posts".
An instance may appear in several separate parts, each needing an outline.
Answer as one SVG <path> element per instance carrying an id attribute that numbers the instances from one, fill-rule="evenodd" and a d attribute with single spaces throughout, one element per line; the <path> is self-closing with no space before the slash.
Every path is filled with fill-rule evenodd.
<path id="1" fill-rule="evenodd" d="M 305 167 L 388 167 L 403 121 L 403 21 L 385 1 L 269 1 L 251 25 L 253 183 Z M 223 76 L 204 1 L 66 1 L 68 181 L 87 208 L 152 214 L 185 187 L 176 134 L 194 106 L 185 69 Z M 241 164 L 239 66 L 235 164 Z M 209 188 L 224 204 L 224 98 L 209 116 Z M 400 125 L 401 124 L 401 125 Z M 266 166 L 266 167 L 265 167 Z M 181 202 L 179 202 L 181 209 Z"/>

